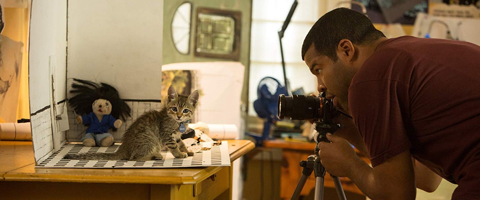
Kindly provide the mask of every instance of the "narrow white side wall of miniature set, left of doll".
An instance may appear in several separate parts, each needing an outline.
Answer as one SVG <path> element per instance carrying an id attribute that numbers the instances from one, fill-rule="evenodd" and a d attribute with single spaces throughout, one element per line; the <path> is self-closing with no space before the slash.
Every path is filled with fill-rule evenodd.
<path id="1" fill-rule="evenodd" d="M 65 99 L 67 3 L 57 0 L 34 0 L 30 19 L 29 95 L 32 140 L 35 160 L 41 162 L 64 142 L 62 132 L 54 132 L 51 118 L 50 66 L 56 66 L 55 99 Z M 52 59 L 56 58 L 56 59 Z M 59 106 L 62 106 L 60 104 Z M 60 147 L 58 147 L 60 148 Z"/>

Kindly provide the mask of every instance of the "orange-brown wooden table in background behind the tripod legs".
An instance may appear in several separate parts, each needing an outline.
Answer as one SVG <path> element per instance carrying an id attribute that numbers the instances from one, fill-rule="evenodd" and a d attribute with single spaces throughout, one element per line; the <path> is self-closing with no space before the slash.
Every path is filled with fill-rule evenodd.
<path id="1" fill-rule="evenodd" d="M 315 143 L 313 142 L 290 142 L 284 140 L 267 140 L 264 141 L 264 147 L 269 148 L 280 148 L 282 149 L 282 157 L 284 163 L 281 167 L 281 177 L 280 177 L 280 198 L 290 199 L 295 191 L 296 184 L 300 180 L 302 167 L 299 165 L 301 160 L 306 160 L 309 155 L 313 154 L 315 148 Z M 361 156 L 358 150 L 355 150 L 365 162 L 370 163 L 370 160 Z M 347 177 L 340 178 L 342 182 L 343 189 L 347 192 L 353 192 L 356 194 L 363 195 L 359 188 Z M 293 186 L 292 186 L 293 185 Z M 335 188 L 332 177 L 328 173 L 324 177 L 324 187 Z M 300 195 L 307 196 L 310 194 L 312 189 L 315 188 L 315 177 L 313 173 L 308 177 L 305 186 L 303 187 Z M 347 198 L 348 199 L 348 198 Z"/>

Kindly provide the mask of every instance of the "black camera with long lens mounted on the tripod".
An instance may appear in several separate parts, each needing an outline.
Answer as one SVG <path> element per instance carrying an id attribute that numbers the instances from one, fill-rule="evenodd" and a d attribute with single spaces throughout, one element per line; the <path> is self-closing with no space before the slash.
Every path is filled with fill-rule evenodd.
<path id="1" fill-rule="evenodd" d="M 325 98 L 325 93 L 318 97 L 306 95 L 285 96 L 285 94 L 278 96 L 278 118 L 315 121 L 315 130 L 317 132 L 313 140 L 317 143 L 320 141 L 330 142 L 327 140 L 326 134 L 333 134 L 337 129 L 343 127 L 341 124 L 333 123 L 332 121 L 333 118 L 340 114 L 343 113 L 334 107 L 332 100 Z"/>

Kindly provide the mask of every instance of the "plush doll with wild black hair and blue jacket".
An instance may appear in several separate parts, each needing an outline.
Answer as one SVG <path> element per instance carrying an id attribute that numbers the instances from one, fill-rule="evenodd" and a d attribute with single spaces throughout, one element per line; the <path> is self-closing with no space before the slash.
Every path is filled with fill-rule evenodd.
<path id="1" fill-rule="evenodd" d="M 118 91 L 107 83 L 95 83 L 73 79 L 74 95 L 68 100 L 77 116 L 76 122 L 89 126 L 82 142 L 85 146 L 110 146 L 113 135 L 108 129 L 117 130 L 122 121 L 130 117 L 130 107 L 120 99 Z"/>

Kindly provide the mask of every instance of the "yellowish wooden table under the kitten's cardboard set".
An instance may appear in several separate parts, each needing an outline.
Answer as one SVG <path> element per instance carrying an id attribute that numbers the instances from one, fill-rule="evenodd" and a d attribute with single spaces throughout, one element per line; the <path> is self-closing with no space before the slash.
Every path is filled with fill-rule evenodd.
<path id="1" fill-rule="evenodd" d="M 228 140 L 230 161 L 255 147 Z M 32 142 L 0 141 L 0 199 L 231 199 L 231 166 L 194 168 L 35 168 Z"/>

